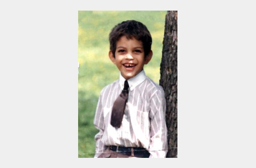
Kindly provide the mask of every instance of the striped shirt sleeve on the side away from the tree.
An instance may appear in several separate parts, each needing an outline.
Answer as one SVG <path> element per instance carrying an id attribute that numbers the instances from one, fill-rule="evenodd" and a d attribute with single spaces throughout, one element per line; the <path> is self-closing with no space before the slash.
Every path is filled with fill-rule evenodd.
<path id="1" fill-rule="evenodd" d="M 105 124 L 104 124 L 104 116 L 103 116 L 103 108 L 102 108 L 102 94 L 99 96 L 95 117 L 94 117 L 94 126 L 99 130 L 98 134 L 95 135 L 95 155 L 94 157 L 98 157 L 104 150 L 104 144 L 102 142 L 102 135 L 104 133 Z"/>

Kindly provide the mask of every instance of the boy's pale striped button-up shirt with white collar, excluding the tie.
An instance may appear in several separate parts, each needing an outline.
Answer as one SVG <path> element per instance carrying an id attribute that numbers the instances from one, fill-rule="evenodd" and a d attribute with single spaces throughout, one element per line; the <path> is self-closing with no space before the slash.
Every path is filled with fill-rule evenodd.
<path id="1" fill-rule="evenodd" d="M 154 83 L 142 70 L 128 79 L 129 95 L 120 128 L 110 124 L 114 101 L 124 88 L 125 79 L 105 86 L 99 96 L 94 117 L 98 157 L 105 146 L 143 147 L 150 157 L 166 157 L 167 128 L 165 120 L 166 100 L 161 86 Z"/>

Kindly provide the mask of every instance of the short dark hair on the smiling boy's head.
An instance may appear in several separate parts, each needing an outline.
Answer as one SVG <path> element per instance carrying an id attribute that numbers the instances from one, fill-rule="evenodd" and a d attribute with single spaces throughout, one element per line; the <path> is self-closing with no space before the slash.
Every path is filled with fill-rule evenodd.
<path id="1" fill-rule="evenodd" d="M 110 50 L 114 57 L 117 48 L 117 41 L 120 37 L 126 36 L 128 39 L 132 37 L 136 40 L 142 41 L 143 50 L 145 56 L 147 56 L 151 50 L 152 38 L 151 34 L 147 30 L 147 27 L 143 23 L 135 20 L 127 20 L 114 26 L 109 34 Z"/>

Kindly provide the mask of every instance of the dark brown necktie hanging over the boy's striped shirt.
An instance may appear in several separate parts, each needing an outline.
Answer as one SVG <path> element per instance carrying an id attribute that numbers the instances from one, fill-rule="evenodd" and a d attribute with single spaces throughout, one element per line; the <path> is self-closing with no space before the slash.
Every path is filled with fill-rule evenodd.
<path id="1" fill-rule="evenodd" d="M 111 122 L 110 124 L 113 127 L 121 127 L 121 123 L 124 116 L 124 109 L 126 102 L 128 100 L 128 88 L 129 84 L 127 80 L 124 81 L 124 89 L 122 90 L 122 93 L 117 97 L 117 100 L 114 102 L 112 114 L 111 114 Z"/>

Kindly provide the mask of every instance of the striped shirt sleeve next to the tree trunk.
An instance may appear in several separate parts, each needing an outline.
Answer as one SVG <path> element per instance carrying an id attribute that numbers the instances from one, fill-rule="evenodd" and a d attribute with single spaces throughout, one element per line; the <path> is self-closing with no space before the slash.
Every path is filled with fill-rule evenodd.
<path id="1" fill-rule="evenodd" d="M 167 146 L 167 128 L 166 128 L 166 99 L 162 87 L 157 90 L 150 100 L 150 134 L 149 145 L 150 157 L 166 157 Z"/>

